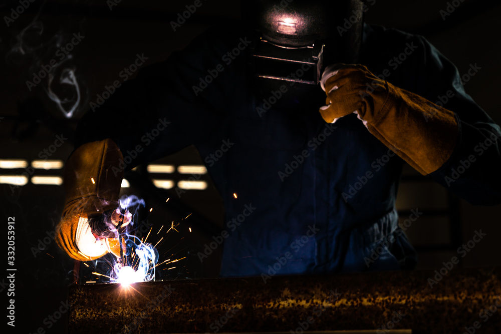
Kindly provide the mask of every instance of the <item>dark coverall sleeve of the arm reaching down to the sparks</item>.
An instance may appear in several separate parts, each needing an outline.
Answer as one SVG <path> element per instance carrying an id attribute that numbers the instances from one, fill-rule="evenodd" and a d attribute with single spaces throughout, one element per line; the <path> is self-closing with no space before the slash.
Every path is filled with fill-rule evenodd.
<path id="1" fill-rule="evenodd" d="M 237 60 L 225 56 L 238 38 L 225 36 L 209 29 L 166 61 L 139 70 L 84 115 L 75 146 L 111 138 L 129 170 L 203 140 L 231 108 L 234 87 L 227 83 L 242 82 Z"/>

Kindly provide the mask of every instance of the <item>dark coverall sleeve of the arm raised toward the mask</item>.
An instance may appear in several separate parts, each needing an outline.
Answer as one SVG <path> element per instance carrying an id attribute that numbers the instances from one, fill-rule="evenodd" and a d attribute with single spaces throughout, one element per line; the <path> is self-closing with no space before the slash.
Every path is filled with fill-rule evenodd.
<path id="1" fill-rule="evenodd" d="M 419 73 L 415 92 L 454 112 L 459 125 L 452 155 L 427 177 L 471 204 L 501 203 L 501 131 L 463 88 L 477 72 L 488 70 L 473 63 L 460 76 L 456 67 L 423 37 L 417 37 L 417 43 L 421 47 L 417 50 L 423 54 L 421 65 L 415 64 Z M 433 112 L 430 107 L 423 117 L 433 117 Z"/>

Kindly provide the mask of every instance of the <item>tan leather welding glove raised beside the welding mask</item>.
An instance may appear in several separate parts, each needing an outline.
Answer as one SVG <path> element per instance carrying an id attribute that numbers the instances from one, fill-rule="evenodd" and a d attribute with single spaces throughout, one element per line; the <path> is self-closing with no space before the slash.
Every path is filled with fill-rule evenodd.
<path id="1" fill-rule="evenodd" d="M 365 66 L 329 66 L 321 87 L 327 94 L 327 105 L 320 108 L 326 122 L 355 112 L 371 134 L 423 175 L 440 168 L 455 148 L 459 130 L 453 112 L 377 78 Z"/>

